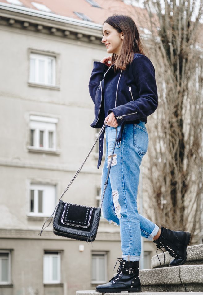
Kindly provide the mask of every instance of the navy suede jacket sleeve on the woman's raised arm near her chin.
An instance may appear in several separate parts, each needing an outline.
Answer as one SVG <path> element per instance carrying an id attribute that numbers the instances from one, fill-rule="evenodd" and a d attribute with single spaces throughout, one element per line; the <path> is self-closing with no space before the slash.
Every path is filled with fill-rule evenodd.
<path id="1" fill-rule="evenodd" d="M 96 90 L 107 70 L 108 70 L 108 66 L 106 66 L 104 63 L 94 61 L 94 67 L 93 67 L 91 77 L 90 77 L 90 82 L 89 82 L 90 96 L 94 103 L 95 103 Z"/>

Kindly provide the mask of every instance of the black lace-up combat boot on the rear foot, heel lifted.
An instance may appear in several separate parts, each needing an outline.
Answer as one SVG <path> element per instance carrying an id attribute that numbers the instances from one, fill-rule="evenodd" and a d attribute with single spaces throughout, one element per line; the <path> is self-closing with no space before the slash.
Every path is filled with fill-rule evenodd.
<path id="1" fill-rule="evenodd" d="M 190 237 L 189 232 L 171 231 L 161 226 L 161 235 L 154 243 L 157 244 L 158 249 L 165 248 L 174 257 L 169 266 L 178 266 L 184 264 L 187 260 L 186 248 L 190 244 Z"/>

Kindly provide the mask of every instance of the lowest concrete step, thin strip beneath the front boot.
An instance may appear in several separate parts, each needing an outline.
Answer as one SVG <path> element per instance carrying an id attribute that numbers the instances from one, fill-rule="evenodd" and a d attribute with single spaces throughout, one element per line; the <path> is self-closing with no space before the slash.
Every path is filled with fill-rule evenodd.
<path id="1" fill-rule="evenodd" d="M 121 293 L 127 293 L 127 292 L 121 292 Z M 104 293 L 98 293 L 95 292 L 95 290 L 84 290 L 84 291 L 77 291 L 76 295 L 99 295 L 99 294 L 104 294 Z M 105 293 L 109 295 L 117 295 L 118 293 Z M 140 294 L 140 293 L 130 293 L 130 294 Z M 203 295 L 203 292 L 155 292 L 155 291 L 147 291 L 147 292 L 142 292 L 142 295 Z"/>

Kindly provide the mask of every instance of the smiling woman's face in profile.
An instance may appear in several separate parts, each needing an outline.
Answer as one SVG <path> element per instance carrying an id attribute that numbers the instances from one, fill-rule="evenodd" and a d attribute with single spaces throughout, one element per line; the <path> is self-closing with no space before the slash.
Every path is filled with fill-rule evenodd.
<path id="1" fill-rule="evenodd" d="M 118 33 L 113 26 L 108 23 L 104 23 L 103 25 L 103 38 L 102 43 L 105 44 L 108 53 L 116 53 L 119 55 L 119 52 L 122 47 L 122 41 L 124 38 L 123 32 Z"/>

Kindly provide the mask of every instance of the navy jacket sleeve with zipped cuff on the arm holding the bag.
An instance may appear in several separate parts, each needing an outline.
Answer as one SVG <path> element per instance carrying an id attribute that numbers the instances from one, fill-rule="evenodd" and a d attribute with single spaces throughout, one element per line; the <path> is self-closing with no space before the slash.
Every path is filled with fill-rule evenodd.
<path id="1" fill-rule="evenodd" d="M 151 61 L 144 55 L 135 58 L 132 62 L 132 74 L 139 97 L 135 101 L 108 110 L 108 115 L 113 112 L 118 123 L 122 120 L 134 121 L 145 118 L 151 115 L 158 106 L 155 70 Z"/>

